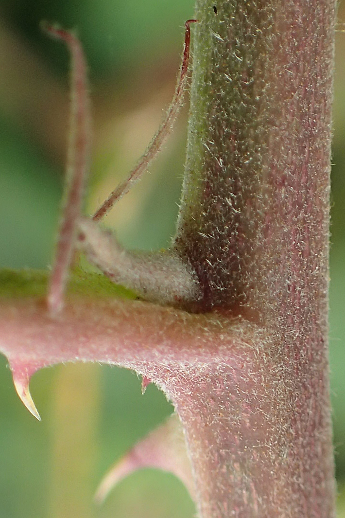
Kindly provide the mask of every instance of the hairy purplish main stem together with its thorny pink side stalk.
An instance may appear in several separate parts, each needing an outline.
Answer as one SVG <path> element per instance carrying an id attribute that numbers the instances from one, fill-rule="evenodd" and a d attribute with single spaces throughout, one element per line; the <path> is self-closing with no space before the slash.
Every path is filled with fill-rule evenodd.
<path id="1" fill-rule="evenodd" d="M 97 361 L 156 383 L 182 422 L 201 518 L 334 518 L 327 287 L 335 5 L 197 0 L 196 17 L 186 174 L 168 256 L 174 283 L 185 288 L 187 275 L 198 287 L 187 297 L 190 312 L 97 296 L 94 287 L 91 296 L 70 293 L 52 316 L 25 276 L 14 276 L 23 296 L 0 293 L 0 350 L 36 417 L 28 384 L 44 366 Z M 94 232 L 89 253 L 101 238 L 108 274 L 119 275 L 108 257 L 138 260 L 104 241 L 95 222 L 82 224 Z M 145 275 L 148 264 L 157 271 L 145 261 Z"/>

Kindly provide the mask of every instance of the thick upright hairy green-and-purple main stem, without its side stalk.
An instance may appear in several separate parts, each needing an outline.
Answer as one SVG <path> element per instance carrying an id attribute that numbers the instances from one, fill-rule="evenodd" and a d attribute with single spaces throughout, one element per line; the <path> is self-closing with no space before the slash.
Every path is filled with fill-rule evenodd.
<path id="1" fill-rule="evenodd" d="M 217 12 L 215 12 L 217 11 Z M 202 518 L 331 518 L 327 287 L 334 0 L 197 0 L 174 248 L 191 309 L 241 322 L 166 390 Z M 253 332 L 253 329 L 256 329 Z M 181 387 L 178 379 L 181 378 Z"/>

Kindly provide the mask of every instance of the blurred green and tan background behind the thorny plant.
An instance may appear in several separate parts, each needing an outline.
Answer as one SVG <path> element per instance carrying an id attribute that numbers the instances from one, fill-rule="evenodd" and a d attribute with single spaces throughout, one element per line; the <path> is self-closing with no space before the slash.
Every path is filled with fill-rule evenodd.
<path id="1" fill-rule="evenodd" d="M 193 0 L 0 1 L 0 266 L 50 263 L 68 131 L 68 54 L 40 20 L 76 27 L 90 75 L 95 209 L 136 162 L 172 97 L 183 24 Z M 340 6 L 339 22 L 345 20 Z M 339 517 L 345 517 L 345 34 L 339 24 L 335 78 L 330 357 Z M 186 141 L 186 110 L 151 174 L 108 218 L 127 247 L 160 248 L 174 233 Z M 67 365 L 34 376 L 38 423 L 14 393 L 0 357 L 1 518 L 191 518 L 173 476 L 143 470 L 101 507 L 102 474 L 171 406 L 155 387 L 141 395 L 132 372 Z"/>

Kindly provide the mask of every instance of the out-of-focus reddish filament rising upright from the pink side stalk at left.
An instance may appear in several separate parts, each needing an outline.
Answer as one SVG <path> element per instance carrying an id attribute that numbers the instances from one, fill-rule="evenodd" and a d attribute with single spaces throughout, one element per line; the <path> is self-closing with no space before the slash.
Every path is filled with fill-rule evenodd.
<path id="1" fill-rule="evenodd" d="M 44 25 L 44 30 L 50 36 L 61 39 L 68 45 L 72 59 L 70 134 L 66 166 L 67 190 L 47 298 L 49 311 L 54 315 L 63 307 L 68 269 L 72 261 L 78 218 L 81 214 L 91 143 L 91 116 L 86 84 L 86 63 L 78 38 L 52 25 Z"/>

